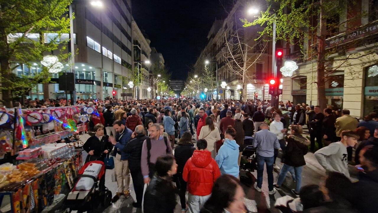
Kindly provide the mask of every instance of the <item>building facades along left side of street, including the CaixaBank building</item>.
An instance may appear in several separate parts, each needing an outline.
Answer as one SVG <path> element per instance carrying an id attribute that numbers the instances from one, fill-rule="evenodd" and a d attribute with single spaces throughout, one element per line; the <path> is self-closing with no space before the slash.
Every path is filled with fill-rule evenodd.
<path id="1" fill-rule="evenodd" d="M 74 63 L 65 61 L 63 72 L 74 72 L 76 93 L 74 97 L 104 99 L 106 97 L 125 98 L 122 93 L 133 93 L 127 79 L 136 67 L 140 68 L 142 83 L 135 89 L 134 97 L 150 98 L 151 65 L 143 63 L 150 59 L 150 40 L 141 32 L 132 17 L 131 0 L 112 0 L 101 7 L 91 5 L 90 1 L 74 0 L 71 4 L 75 14 L 73 20 Z M 45 40 L 53 39 L 56 33 L 45 33 Z M 11 38 L 11 35 L 9 36 Z M 39 39 L 39 34 L 28 34 L 30 39 Z M 61 45 L 66 45 L 63 53 L 68 53 L 69 34 L 60 36 Z M 59 40 L 58 40 L 59 41 Z M 66 42 L 63 42 L 66 41 Z M 47 41 L 46 41 L 47 42 Z M 60 54 L 60 50 L 47 54 Z M 158 63 L 164 64 L 164 59 Z M 156 58 L 156 56 L 155 56 Z M 159 56 L 157 56 L 159 59 Z M 16 75 L 33 76 L 42 70 L 39 61 L 31 65 L 20 64 L 13 72 Z M 66 98 L 66 92 L 59 90 L 58 74 L 51 74 L 50 83 L 38 84 L 26 98 L 60 99 Z M 113 95 L 113 91 L 115 94 Z M 71 98 L 70 95 L 67 96 Z M 131 98 L 130 96 L 128 98 Z"/>

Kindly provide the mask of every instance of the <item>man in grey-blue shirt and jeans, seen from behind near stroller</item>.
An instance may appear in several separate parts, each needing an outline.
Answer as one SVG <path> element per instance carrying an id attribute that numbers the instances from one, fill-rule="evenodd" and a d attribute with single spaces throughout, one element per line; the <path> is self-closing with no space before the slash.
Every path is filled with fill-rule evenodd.
<path id="1" fill-rule="evenodd" d="M 268 188 L 269 194 L 276 193 L 273 188 L 273 164 L 274 164 L 274 149 L 279 149 L 276 134 L 268 130 L 269 126 L 263 122 L 260 124 L 261 130 L 256 132 L 253 146 L 257 149 L 257 182 L 254 187 L 257 191 L 262 191 L 262 176 L 264 171 L 264 163 L 266 163 L 266 173 L 268 174 Z"/>

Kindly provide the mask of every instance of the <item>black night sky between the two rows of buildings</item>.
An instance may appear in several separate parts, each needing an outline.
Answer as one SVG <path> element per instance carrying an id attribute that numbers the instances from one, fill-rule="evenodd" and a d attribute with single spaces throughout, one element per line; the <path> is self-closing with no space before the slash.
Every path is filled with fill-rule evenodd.
<path id="1" fill-rule="evenodd" d="M 219 0 L 132 0 L 132 14 L 151 47 L 163 54 L 172 79 L 186 79 L 215 18 L 226 12 Z"/>

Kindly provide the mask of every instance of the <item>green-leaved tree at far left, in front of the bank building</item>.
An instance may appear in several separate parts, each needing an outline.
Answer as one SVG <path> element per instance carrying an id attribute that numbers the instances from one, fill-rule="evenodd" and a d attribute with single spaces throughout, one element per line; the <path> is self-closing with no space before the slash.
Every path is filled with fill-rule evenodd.
<path id="1" fill-rule="evenodd" d="M 12 73 L 18 65 L 41 61 L 44 53 L 59 50 L 58 58 L 63 60 L 69 54 L 62 54 L 65 45 L 58 41 L 62 33 L 70 32 L 68 6 L 72 0 L 2 0 L 0 4 L 0 74 L 3 104 L 12 107 L 13 95 L 25 92 L 38 83 L 48 82 L 48 67 L 43 67 L 33 79 L 15 76 Z M 50 40 L 44 33 L 57 33 Z M 36 39 L 31 39 L 31 35 Z M 60 42 L 67 42 L 60 41 Z"/>

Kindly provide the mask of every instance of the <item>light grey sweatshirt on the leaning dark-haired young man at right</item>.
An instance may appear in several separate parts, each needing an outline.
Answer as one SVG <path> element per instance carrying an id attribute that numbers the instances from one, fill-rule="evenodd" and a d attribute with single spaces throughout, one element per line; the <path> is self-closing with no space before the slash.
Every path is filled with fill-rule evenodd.
<path id="1" fill-rule="evenodd" d="M 319 149 L 314 155 L 326 171 L 336 171 L 350 178 L 347 148 L 340 141 Z"/>

